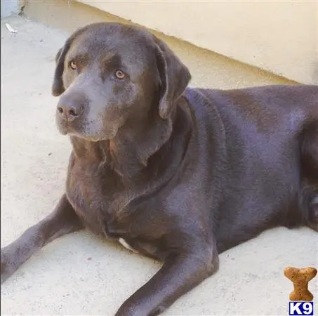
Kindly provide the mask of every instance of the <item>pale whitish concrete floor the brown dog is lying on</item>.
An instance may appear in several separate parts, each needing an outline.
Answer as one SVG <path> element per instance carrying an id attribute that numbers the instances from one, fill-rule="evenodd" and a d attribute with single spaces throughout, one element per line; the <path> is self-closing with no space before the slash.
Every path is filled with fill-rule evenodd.
<path id="1" fill-rule="evenodd" d="M 63 192 L 70 145 L 55 129 L 51 80 L 66 37 L 26 18 L 1 22 L 1 246 L 46 216 Z M 317 267 L 317 248 L 307 228 L 267 231 L 222 254 L 218 273 L 165 315 L 288 315 L 292 284 L 283 269 Z M 114 315 L 159 268 L 88 232 L 68 235 L 1 286 L 1 315 Z"/>

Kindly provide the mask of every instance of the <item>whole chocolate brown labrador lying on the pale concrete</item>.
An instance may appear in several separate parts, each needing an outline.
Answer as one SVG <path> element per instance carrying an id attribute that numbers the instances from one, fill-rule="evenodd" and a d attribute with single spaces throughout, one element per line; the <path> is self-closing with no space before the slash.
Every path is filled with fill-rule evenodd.
<path id="1" fill-rule="evenodd" d="M 56 56 L 65 195 L 1 250 L 1 280 L 76 230 L 164 261 L 117 315 L 158 315 L 218 270 L 218 254 L 277 225 L 318 231 L 318 87 L 187 88 L 143 29 L 97 23 Z"/>

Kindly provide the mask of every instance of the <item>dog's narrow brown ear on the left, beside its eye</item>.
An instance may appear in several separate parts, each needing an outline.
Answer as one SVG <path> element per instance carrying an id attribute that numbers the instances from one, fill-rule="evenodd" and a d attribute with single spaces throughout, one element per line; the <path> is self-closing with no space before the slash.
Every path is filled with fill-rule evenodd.
<path id="1" fill-rule="evenodd" d="M 64 61 L 65 55 L 69 50 L 70 39 L 68 39 L 65 45 L 59 49 L 58 53 L 55 56 L 55 73 L 52 84 L 52 94 L 53 96 L 60 96 L 65 91 L 65 86 L 63 84 L 62 75 L 64 72 Z"/>

